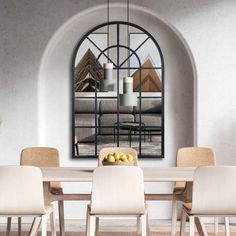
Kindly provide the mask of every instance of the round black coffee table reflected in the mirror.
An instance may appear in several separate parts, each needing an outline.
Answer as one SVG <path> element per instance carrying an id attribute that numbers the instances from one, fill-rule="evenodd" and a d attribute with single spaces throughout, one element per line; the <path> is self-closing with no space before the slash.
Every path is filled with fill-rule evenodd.
<path id="1" fill-rule="evenodd" d="M 116 141 L 116 130 L 127 130 L 128 131 L 128 140 L 129 146 L 131 147 L 132 143 L 132 134 L 135 134 L 137 131 L 144 132 L 144 141 L 145 141 L 145 123 L 143 122 L 135 122 L 135 121 L 122 121 L 114 123 L 114 142 Z"/>

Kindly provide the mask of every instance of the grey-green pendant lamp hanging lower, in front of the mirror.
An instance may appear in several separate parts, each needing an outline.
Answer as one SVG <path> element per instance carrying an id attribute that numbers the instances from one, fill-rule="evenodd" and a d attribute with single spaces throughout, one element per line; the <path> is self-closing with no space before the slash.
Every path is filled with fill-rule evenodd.
<path id="1" fill-rule="evenodd" d="M 120 94 L 120 106 L 137 106 L 137 96 L 133 92 L 133 77 L 123 78 L 123 94 Z"/>

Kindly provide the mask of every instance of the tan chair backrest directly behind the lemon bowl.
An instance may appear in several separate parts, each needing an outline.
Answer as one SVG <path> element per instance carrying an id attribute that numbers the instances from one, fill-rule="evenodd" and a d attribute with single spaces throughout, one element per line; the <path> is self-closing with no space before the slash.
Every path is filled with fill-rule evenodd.
<path id="1" fill-rule="evenodd" d="M 137 151 L 133 148 L 125 148 L 125 147 L 109 147 L 109 148 L 102 148 L 99 152 L 98 157 L 98 166 L 103 166 L 102 160 L 106 157 L 109 153 L 114 152 L 123 152 L 125 154 L 131 154 L 134 157 L 134 165 L 138 166 L 138 154 Z"/>

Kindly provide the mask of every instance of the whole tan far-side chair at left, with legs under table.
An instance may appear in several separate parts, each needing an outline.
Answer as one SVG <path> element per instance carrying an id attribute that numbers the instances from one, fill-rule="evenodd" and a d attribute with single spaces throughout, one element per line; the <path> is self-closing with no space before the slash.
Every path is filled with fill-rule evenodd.
<path id="1" fill-rule="evenodd" d="M 24 166 L 37 167 L 59 167 L 59 153 L 55 148 L 50 147 L 30 147 L 25 148 L 21 152 L 20 164 Z M 62 194 L 63 190 L 59 182 L 51 182 L 51 191 L 54 194 Z M 60 235 L 65 235 L 64 226 L 64 204 L 63 201 L 58 201 L 59 220 L 60 220 Z M 8 228 L 10 228 L 11 219 L 8 218 Z M 20 228 L 21 220 L 18 219 L 18 227 Z M 20 230 L 18 229 L 20 234 Z"/>

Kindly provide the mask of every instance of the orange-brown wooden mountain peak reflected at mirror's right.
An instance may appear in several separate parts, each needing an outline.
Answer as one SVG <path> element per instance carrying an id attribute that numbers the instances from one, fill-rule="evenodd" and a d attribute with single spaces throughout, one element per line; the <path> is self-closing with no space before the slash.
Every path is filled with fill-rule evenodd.
<path id="1" fill-rule="evenodd" d="M 145 69 L 149 68 L 149 69 Z M 154 67 L 151 60 L 147 59 L 143 65 L 141 70 L 141 88 L 142 92 L 161 92 L 161 80 L 158 73 L 155 69 L 151 68 Z M 136 70 L 132 77 L 134 78 L 133 82 L 133 91 L 139 91 L 139 70 Z"/>

